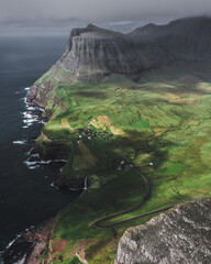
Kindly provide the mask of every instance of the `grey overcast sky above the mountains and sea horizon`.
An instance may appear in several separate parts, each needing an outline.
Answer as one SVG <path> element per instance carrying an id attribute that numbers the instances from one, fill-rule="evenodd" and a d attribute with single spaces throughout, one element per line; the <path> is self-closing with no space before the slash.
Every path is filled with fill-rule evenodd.
<path id="1" fill-rule="evenodd" d="M 87 23 L 130 31 L 195 15 L 211 15 L 211 0 L 0 0 L 0 33 L 66 34 Z"/>

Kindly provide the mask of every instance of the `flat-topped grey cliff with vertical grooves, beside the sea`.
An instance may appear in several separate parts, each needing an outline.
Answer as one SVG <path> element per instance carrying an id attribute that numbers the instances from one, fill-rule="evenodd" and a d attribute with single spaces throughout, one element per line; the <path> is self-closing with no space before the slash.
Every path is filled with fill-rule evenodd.
<path id="1" fill-rule="evenodd" d="M 88 25 L 73 30 L 66 53 L 56 64 L 77 77 L 104 76 L 112 73 L 137 75 L 140 66 L 147 68 L 147 59 L 140 56 L 125 35 Z"/>

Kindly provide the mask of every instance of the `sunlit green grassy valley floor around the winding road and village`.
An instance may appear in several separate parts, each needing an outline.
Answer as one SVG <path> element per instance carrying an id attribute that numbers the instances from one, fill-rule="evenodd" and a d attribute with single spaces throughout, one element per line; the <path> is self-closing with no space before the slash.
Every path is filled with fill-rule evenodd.
<path id="1" fill-rule="evenodd" d="M 89 263 L 112 263 L 125 229 L 148 220 L 108 230 L 91 228 L 102 217 L 134 207 L 147 191 L 135 169 L 116 169 L 124 158 L 109 141 L 95 135 L 92 142 L 79 140 L 75 133 L 99 116 L 107 116 L 123 131 L 113 141 L 153 182 L 153 197 L 144 208 L 112 221 L 211 196 L 211 84 L 196 73 L 173 73 L 147 76 L 137 84 L 116 77 L 101 82 L 58 82 L 55 92 L 68 108 L 43 133 L 49 140 L 71 142 L 73 154 L 63 170 L 69 183 L 88 176 L 93 184 L 58 213 L 51 240 L 53 263 L 60 263 L 59 255 L 64 263 L 79 263 L 75 255 L 82 256 L 84 251 Z M 107 123 L 91 129 L 111 130 Z M 82 151 L 82 145 L 89 151 Z"/>

